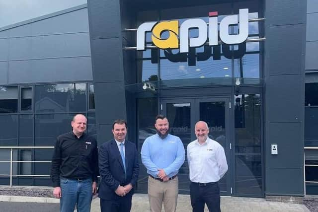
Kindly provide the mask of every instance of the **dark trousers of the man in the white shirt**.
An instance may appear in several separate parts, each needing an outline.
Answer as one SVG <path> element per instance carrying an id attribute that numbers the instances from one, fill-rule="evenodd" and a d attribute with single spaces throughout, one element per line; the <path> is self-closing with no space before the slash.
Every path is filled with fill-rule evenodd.
<path id="1" fill-rule="evenodd" d="M 210 212 L 221 212 L 218 182 L 208 185 L 191 182 L 190 198 L 192 212 L 203 212 L 204 204 L 207 204 Z"/>

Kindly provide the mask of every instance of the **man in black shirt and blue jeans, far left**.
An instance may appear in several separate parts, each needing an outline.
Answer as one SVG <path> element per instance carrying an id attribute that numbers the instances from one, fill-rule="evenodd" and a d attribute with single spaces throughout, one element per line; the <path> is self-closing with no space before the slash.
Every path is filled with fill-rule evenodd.
<path id="1" fill-rule="evenodd" d="M 90 212 L 96 193 L 98 150 L 96 140 L 85 133 L 87 119 L 77 114 L 73 131 L 59 136 L 52 156 L 53 195 L 60 200 L 60 212 Z"/>

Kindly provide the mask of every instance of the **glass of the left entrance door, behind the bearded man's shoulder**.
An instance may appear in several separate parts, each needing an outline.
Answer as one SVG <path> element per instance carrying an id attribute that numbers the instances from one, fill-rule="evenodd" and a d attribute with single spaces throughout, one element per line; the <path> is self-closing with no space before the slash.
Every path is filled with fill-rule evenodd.
<path id="1" fill-rule="evenodd" d="M 184 148 L 191 142 L 191 105 L 190 103 L 167 103 L 166 116 L 169 120 L 170 133 L 183 142 Z M 189 166 L 187 159 L 179 169 L 179 190 L 188 191 L 190 187 Z"/>

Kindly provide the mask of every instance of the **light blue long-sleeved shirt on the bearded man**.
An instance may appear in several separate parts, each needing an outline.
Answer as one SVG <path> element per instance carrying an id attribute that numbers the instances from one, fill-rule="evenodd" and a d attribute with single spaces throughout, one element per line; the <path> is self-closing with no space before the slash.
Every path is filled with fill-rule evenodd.
<path id="1" fill-rule="evenodd" d="M 158 169 L 163 169 L 168 177 L 172 177 L 184 163 L 184 153 L 184 146 L 179 137 L 168 134 L 165 139 L 161 139 L 156 134 L 144 141 L 141 159 L 148 174 L 158 177 Z"/>

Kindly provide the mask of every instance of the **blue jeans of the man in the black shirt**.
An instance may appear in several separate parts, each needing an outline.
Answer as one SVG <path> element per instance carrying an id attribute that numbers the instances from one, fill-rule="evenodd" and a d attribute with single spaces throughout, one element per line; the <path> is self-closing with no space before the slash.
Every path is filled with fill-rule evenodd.
<path id="1" fill-rule="evenodd" d="M 60 179 L 62 198 L 60 212 L 73 212 L 75 206 L 78 212 L 90 212 L 92 198 L 92 180 Z"/>

